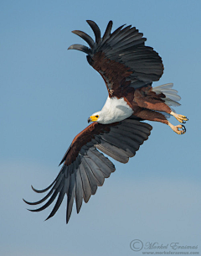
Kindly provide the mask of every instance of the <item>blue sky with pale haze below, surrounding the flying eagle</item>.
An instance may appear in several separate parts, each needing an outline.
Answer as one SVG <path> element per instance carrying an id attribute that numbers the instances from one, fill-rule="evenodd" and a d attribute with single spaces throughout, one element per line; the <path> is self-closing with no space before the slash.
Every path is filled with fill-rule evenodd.
<path id="1" fill-rule="evenodd" d="M 1 1 L 0 3 L 0 254 L 141 255 L 131 240 L 198 245 L 201 253 L 200 1 Z M 104 105 L 106 86 L 68 50 L 83 44 L 70 31 L 105 31 L 132 24 L 162 56 L 164 74 L 182 97 L 176 110 L 189 118 L 187 133 L 152 123 L 152 135 L 126 165 L 106 179 L 65 224 L 66 198 L 32 213 L 22 198 L 37 201 L 59 172 L 59 161 L 87 118 Z M 178 124 L 171 118 L 173 124 Z"/>

